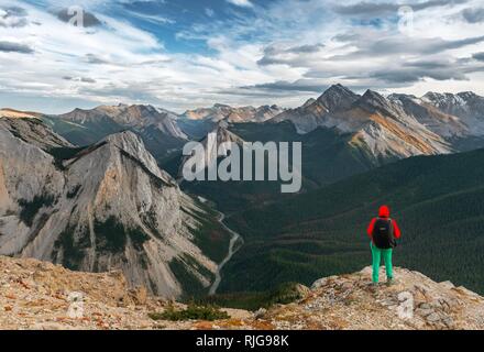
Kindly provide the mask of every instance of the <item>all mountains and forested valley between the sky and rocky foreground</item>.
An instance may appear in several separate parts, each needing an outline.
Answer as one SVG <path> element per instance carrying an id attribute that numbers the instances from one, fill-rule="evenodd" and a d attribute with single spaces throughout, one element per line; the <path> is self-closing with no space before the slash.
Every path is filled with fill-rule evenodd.
<path id="1" fill-rule="evenodd" d="M 402 264 L 484 289 L 484 277 L 461 270 L 481 263 L 482 250 L 483 161 L 472 151 L 484 147 L 484 98 L 473 92 L 385 97 L 334 85 L 295 109 L 176 114 L 118 105 L 0 116 L 0 254 L 121 270 L 166 297 L 205 295 L 232 245 L 215 205 L 245 240 L 220 289 L 261 290 L 361 267 L 363 223 L 388 202 L 409 233 Z M 278 182 L 179 179 L 182 147 L 208 132 L 218 143 L 301 142 L 300 195 L 280 195 Z M 418 234 L 436 249 L 421 249 Z"/>

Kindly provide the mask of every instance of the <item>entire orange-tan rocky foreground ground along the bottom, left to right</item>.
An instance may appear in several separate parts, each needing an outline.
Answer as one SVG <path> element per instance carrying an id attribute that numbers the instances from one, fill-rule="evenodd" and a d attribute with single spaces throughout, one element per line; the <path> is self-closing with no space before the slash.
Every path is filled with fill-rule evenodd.
<path id="1" fill-rule="evenodd" d="M 0 257 L 0 329 L 483 329 L 484 298 L 405 268 L 392 286 L 371 268 L 298 286 L 299 299 L 255 312 L 222 309 L 215 321 L 152 319 L 179 302 L 129 288 L 121 272 L 72 272 L 33 258 Z M 383 276 L 383 270 L 382 270 Z"/>

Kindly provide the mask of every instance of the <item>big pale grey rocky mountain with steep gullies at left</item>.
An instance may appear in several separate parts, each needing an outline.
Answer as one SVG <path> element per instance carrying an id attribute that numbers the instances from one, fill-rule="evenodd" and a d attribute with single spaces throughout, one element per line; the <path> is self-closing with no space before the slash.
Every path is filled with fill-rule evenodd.
<path id="1" fill-rule="evenodd" d="M 216 215 L 185 195 L 133 132 L 79 148 L 40 120 L 0 119 L 0 254 L 121 270 L 131 285 L 178 297 L 208 290 L 215 278 L 220 258 L 199 245 L 217 252 L 230 239 L 220 230 L 210 242 L 209 224 Z"/>

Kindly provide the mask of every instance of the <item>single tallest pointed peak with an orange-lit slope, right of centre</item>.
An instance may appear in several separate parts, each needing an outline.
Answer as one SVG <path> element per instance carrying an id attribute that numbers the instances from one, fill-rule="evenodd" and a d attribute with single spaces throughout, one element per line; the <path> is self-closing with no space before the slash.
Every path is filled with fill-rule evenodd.
<path id="1" fill-rule="evenodd" d="M 341 85 L 332 86 L 312 103 L 287 110 L 271 122 L 285 120 L 292 121 L 299 133 L 318 127 L 350 133 L 350 144 L 375 160 L 452 151 L 442 136 L 427 129 L 400 105 L 372 90 L 359 96 Z"/>

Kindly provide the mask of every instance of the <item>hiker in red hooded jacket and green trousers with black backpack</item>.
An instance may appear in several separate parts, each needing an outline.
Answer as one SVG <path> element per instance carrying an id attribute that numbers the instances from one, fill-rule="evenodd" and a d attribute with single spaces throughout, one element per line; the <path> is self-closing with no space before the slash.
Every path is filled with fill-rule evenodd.
<path id="1" fill-rule="evenodd" d="M 370 239 L 370 248 L 372 249 L 373 258 L 373 285 L 378 284 L 380 263 L 383 256 L 386 268 L 386 283 L 393 283 L 393 267 L 392 267 L 392 252 L 396 246 L 396 239 L 400 238 L 400 229 L 395 220 L 389 218 L 389 209 L 387 206 L 382 206 L 378 211 L 378 217 L 370 222 L 366 230 Z"/>

